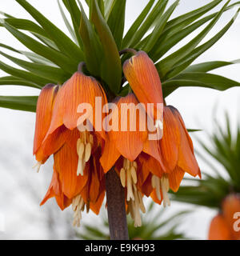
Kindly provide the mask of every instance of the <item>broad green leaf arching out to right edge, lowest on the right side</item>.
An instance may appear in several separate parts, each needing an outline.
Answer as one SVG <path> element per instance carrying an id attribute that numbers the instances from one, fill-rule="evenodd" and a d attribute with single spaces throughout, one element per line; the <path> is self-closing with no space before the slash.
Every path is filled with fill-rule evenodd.
<path id="1" fill-rule="evenodd" d="M 230 87 L 240 86 L 240 83 L 217 74 L 203 72 L 182 73 L 177 77 L 162 83 L 164 96 L 166 97 L 171 94 L 180 86 L 200 86 L 215 90 L 227 90 Z"/>

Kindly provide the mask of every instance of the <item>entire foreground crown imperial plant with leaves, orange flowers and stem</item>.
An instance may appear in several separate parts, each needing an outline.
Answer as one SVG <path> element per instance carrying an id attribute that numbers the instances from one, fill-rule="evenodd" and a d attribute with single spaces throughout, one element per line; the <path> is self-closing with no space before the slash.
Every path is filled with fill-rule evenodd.
<path id="1" fill-rule="evenodd" d="M 21 67 L 0 62 L 8 74 L 0 83 L 41 92 L 38 98 L 0 96 L 0 106 L 36 111 L 38 170 L 54 155 L 53 178 L 41 204 L 54 197 L 62 210 L 71 205 L 74 226 L 79 226 L 82 211 L 98 214 L 106 194 L 110 237 L 127 239 L 126 213 L 141 226 L 144 196 L 170 206 L 168 191 L 178 191 L 185 173 L 201 178 L 182 116 L 166 105 L 165 98 L 180 86 L 239 86 L 209 73 L 235 62 L 192 65 L 233 24 L 238 11 L 202 43 L 222 14 L 237 3 L 214 0 L 171 18 L 179 1 L 169 5 L 167 0 L 150 0 L 124 34 L 126 0 L 86 0 L 88 15 L 83 1 L 62 0 L 58 6 L 69 38 L 29 2 L 15 2 L 34 21 L 1 13 L 0 25 L 28 51 L 0 46 L 28 60 L 0 51 Z M 220 10 L 205 15 L 221 4 Z M 198 28 L 200 33 L 169 54 Z"/>

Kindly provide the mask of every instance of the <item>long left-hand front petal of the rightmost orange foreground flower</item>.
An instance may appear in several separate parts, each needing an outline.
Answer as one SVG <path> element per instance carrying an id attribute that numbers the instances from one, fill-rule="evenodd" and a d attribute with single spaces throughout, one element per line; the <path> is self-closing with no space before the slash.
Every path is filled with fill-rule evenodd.
<path id="1" fill-rule="evenodd" d="M 177 119 L 174 117 L 170 106 L 164 107 L 163 112 L 163 135 L 159 141 L 162 162 L 170 173 L 177 166 L 178 148 L 180 144 L 180 131 Z"/>

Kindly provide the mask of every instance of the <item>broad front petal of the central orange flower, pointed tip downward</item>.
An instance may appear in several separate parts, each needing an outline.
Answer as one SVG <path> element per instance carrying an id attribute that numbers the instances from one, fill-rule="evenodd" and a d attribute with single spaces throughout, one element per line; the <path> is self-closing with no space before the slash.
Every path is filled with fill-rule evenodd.
<path id="1" fill-rule="evenodd" d="M 143 129 L 141 128 L 141 130 L 139 127 L 139 125 L 146 125 L 146 113 L 142 107 L 136 111 L 137 105 L 138 101 L 134 94 L 119 98 L 117 102 L 118 108 L 113 110 L 113 120 L 116 120 L 115 115 L 118 115 L 118 131 L 110 131 L 109 133 L 110 141 L 114 142 L 119 153 L 130 161 L 134 161 L 138 154 L 141 153 L 143 143 L 147 138 L 146 129 L 142 131 Z M 122 126 L 125 126 L 126 131 L 123 130 Z"/>

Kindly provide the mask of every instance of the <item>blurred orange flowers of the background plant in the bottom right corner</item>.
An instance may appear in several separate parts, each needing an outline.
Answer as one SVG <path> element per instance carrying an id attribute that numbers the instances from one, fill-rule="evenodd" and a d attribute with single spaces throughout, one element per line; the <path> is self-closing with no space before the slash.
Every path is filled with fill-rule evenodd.
<path id="1" fill-rule="evenodd" d="M 212 219 L 208 238 L 210 240 L 240 240 L 238 213 L 240 213 L 240 197 L 238 194 L 230 194 L 222 202 L 221 214 Z"/>

